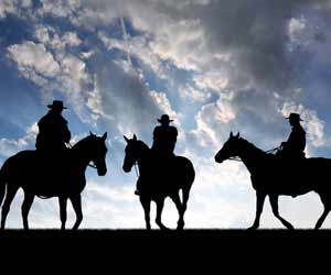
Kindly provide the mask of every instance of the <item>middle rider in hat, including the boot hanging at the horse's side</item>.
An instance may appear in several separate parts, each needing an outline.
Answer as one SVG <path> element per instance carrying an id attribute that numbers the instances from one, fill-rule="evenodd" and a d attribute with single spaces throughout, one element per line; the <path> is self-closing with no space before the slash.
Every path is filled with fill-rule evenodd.
<path id="1" fill-rule="evenodd" d="M 168 114 L 162 114 L 158 122 L 161 125 L 157 125 L 153 131 L 153 144 L 151 146 L 152 158 L 154 160 L 156 169 L 160 170 L 160 174 L 164 174 L 167 169 L 171 170 L 171 165 L 174 163 L 175 155 L 173 153 L 178 136 L 175 127 L 170 125 Z M 137 182 L 136 195 L 140 191 L 140 182 Z"/>

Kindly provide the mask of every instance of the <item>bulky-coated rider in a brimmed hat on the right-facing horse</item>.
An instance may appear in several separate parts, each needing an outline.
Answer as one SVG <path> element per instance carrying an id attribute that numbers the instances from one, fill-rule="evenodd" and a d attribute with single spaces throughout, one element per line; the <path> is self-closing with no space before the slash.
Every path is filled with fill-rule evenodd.
<path id="1" fill-rule="evenodd" d="M 38 122 L 39 134 L 35 147 L 38 151 L 63 152 L 66 143 L 70 143 L 71 132 L 67 121 L 62 117 L 62 111 L 66 109 L 63 102 L 54 100 L 47 106 L 51 110 Z"/>

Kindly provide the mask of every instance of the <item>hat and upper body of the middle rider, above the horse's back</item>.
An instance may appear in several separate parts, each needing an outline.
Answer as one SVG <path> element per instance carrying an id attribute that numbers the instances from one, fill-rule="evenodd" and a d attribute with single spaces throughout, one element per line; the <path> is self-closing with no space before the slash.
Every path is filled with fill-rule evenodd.
<path id="1" fill-rule="evenodd" d="M 170 125 L 173 120 L 168 114 L 162 114 L 158 119 L 161 125 L 154 128 L 152 152 L 157 157 L 169 158 L 174 156 L 173 151 L 177 142 L 178 131 L 175 127 Z"/>

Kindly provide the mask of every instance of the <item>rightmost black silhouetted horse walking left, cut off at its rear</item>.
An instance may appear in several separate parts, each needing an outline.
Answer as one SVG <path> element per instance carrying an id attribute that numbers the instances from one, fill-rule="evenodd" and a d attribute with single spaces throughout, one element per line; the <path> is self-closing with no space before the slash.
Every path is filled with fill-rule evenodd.
<path id="1" fill-rule="evenodd" d="M 293 229 L 292 224 L 278 212 L 278 196 L 300 196 L 309 191 L 319 194 L 324 211 L 314 229 L 319 229 L 331 210 L 331 186 L 328 178 L 331 160 L 307 158 L 296 162 L 280 162 L 278 157 L 257 148 L 254 144 L 233 135 L 224 143 L 215 156 L 217 163 L 238 156 L 250 173 L 253 188 L 256 190 L 256 217 L 249 229 L 257 229 L 266 196 L 269 196 L 273 212 L 281 223 Z"/>

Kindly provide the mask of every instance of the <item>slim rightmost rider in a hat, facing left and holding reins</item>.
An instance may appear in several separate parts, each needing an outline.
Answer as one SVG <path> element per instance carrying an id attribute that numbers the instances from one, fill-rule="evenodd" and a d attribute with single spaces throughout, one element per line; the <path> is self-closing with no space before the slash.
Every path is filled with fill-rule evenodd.
<path id="1" fill-rule="evenodd" d="M 303 158 L 305 147 L 306 147 L 306 132 L 300 124 L 300 114 L 290 113 L 287 118 L 292 131 L 286 142 L 280 145 L 280 151 L 277 155 L 288 157 L 288 158 Z"/>

